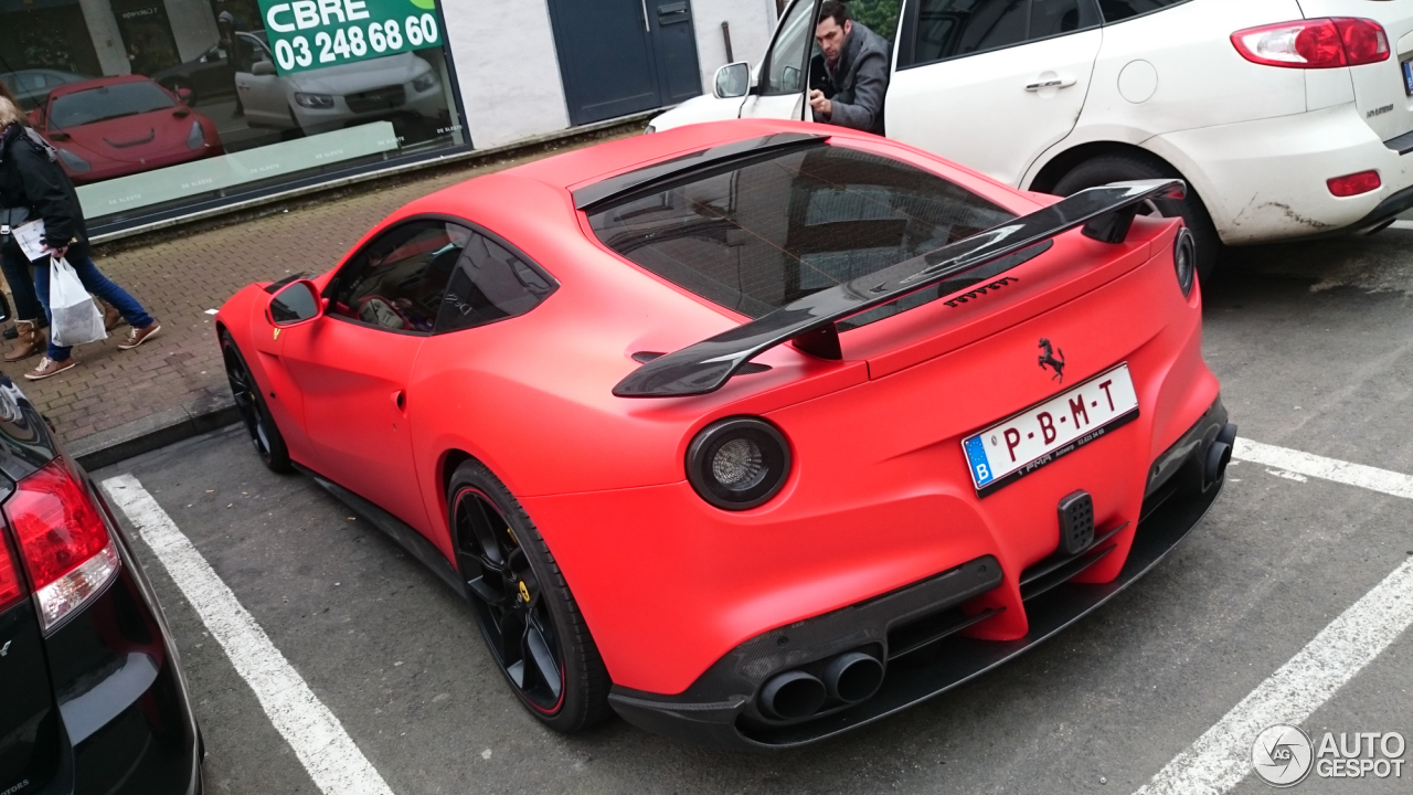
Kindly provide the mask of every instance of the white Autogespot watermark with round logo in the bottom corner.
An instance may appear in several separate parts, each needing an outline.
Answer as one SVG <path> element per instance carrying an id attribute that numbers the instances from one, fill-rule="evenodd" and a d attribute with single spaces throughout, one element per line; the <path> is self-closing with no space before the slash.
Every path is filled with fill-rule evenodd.
<path id="1" fill-rule="evenodd" d="M 1318 778 L 1403 778 L 1397 731 L 1325 731 L 1318 743 L 1299 726 L 1277 723 L 1256 736 L 1251 764 L 1272 787 L 1294 787 L 1311 772 Z"/>

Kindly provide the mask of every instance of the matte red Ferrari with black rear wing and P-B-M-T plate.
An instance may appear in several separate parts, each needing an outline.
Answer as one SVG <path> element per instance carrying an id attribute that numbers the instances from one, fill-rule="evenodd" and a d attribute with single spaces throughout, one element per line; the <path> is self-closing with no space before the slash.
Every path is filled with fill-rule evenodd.
<path id="1" fill-rule="evenodd" d="M 728 122 L 428 195 L 219 314 L 260 455 L 466 597 L 521 703 L 783 747 L 1149 570 L 1236 427 L 1177 180 L 1067 199 Z"/>

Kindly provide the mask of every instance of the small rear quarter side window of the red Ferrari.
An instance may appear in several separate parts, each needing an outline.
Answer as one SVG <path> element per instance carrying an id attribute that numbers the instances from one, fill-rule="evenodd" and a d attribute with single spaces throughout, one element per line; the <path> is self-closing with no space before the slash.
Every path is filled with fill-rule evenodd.
<path id="1" fill-rule="evenodd" d="M 437 332 L 526 314 L 558 287 L 547 274 L 485 235 L 472 233 L 451 274 Z"/>

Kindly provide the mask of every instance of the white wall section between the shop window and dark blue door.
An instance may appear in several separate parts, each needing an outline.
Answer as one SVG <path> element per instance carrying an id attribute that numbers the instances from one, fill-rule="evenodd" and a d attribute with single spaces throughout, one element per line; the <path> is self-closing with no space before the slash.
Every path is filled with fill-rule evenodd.
<path id="1" fill-rule="evenodd" d="M 545 0 L 441 6 L 472 146 L 500 146 L 569 126 Z"/>

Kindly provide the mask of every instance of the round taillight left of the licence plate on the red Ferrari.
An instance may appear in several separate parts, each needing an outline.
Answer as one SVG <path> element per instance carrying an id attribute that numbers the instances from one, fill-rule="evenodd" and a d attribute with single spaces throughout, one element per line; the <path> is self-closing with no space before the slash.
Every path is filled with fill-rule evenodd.
<path id="1" fill-rule="evenodd" d="M 790 474 L 790 446 L 776 426 L 728 417 L 702 429 L 687 448 L 687 480 L 716 508 L 745 511 L 764 504 Z"/>

